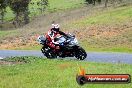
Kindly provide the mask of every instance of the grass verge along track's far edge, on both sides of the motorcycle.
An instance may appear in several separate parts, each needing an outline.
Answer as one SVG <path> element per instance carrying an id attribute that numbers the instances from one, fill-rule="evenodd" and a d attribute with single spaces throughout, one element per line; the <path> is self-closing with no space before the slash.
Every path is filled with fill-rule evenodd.
<path id="1" fill-rule="evenodd" d="M 91 46 L 91 45 L 84 45 L 81 44 L 82 47 L 88 51 L 88 52 L 122 52 L 122 53 L 132 53 L 132 49 L 129 47 L 104 47 L 104 48 L 100 48 L 100 47 L 95 47 L 95 46 Z M 14 48 L 14 50 L 41 50 L 41 46 L 37 45 L 37 46 L 26 46 L 26 47 L 17 47 Z"/>

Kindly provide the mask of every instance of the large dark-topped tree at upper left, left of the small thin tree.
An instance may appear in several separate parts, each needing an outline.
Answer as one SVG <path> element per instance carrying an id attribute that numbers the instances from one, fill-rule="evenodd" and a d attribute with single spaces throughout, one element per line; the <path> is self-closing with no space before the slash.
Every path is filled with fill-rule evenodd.
<path id="1" fill-rule="evenodd" d="M 10 0 L 9 6 L 15 14 L 15 26 L 29 23 L 29 3 L 30 0 Z"/>

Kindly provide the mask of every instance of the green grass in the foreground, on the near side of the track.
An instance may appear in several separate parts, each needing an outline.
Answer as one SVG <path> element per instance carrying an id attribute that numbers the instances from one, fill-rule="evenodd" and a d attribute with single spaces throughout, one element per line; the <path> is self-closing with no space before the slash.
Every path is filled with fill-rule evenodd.
<path id="1" fill-rule="evenodd" d="M 17 58 L 9 59 L 17 61 Z M 20 60 L 20 58 L 18 58 Z M 65 58 L 66 59 L 66 58 Z M 22 58 L 23 60 L 23 58 Z M 30 62 L 0 65 L 0 88 L 80 88 L 76 74 L 82 66 L 87 74 L 130 74 L 132 65 L 49 60 L 25 57 Z M 86 84 L 82 88 L 131 88 L 132 84 Z"/>

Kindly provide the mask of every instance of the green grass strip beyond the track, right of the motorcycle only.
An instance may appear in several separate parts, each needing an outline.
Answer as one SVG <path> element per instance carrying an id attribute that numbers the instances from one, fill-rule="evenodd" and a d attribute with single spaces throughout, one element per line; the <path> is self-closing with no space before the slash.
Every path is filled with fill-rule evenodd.
<path id="1" fill-rule="evenodd" d="M 100 43 L 100 42 L 99 42 Z M 132 53 L 132 48 L 130 46 L 127 45 L 114 45 L 114 44 L 110 44 L 110 45 L 106 45 L 105 46 L 105 42 L 104 44 L 99 44 L 99 43 L 95 43 L 95 44 L 89 44 L 86 41 L 82 41 L 80 43 L 80 46 L 82 46 L 86 51 L 90 51 L 90 52 L 122 52 L 122 53 Z"/>

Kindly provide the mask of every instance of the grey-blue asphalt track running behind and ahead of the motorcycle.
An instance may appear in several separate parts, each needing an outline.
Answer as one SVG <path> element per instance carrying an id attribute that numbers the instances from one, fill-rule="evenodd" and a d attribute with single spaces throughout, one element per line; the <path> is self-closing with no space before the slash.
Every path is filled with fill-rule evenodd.
<path id="1" fill-rule="evenodd" d="M 38 56 L 44 57 L 41 51 L 31 50 L 0 50 L 0 59 L 14 56 Z M 66 59 L 66 58 L 64 58 Z M 75 59 L 75 58 L 74 58 Z M 126 63 L 132 64 L 132 54 L 110 53 L 110 52 L 88 52 L 85 61 L 106 62 L 106 63 Z"/>

